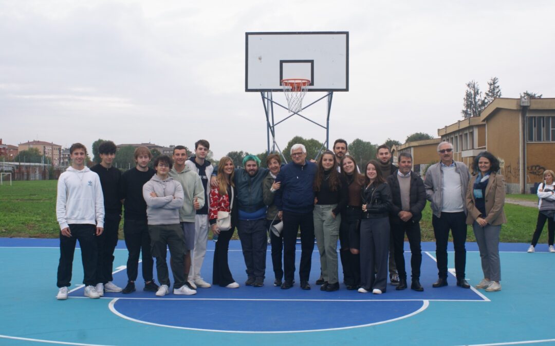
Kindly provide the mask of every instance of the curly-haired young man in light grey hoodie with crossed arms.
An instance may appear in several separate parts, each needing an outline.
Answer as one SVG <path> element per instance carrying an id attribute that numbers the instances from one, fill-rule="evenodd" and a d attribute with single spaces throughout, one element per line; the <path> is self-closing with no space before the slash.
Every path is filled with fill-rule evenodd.
<path id="1" fill-rule="evenodd" d="M 174 277 L 174 295 L 194 295 L 185 285 L 184 270 L 185 239 L 179 225 L 179 209 L 183 206 L 183 188 L 169 176 L 173 166 L 169 156 L 162 155 L 154 160 L 156 174 L 144 184 L 143 198 L 147 202 L 148 233 L 152 255 L 156 259 L 156 271 L 160 288 L 157 296 L 169 291 L 166 246 L 170 249 L 171 272 Z M 192 292 L 191 292 L 192 291 Z"/>

